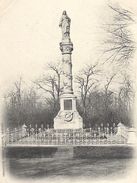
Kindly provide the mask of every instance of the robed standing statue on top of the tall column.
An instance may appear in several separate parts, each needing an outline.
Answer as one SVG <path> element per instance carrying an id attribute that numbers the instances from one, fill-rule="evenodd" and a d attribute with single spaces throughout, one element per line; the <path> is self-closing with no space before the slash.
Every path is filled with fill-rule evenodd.
<path id="1" fill-rule="evenodd" d="M 66 11 L 63 11 L 59 27 L 62 29 L 62 40 L 70 39 L 70 23 L 71 19 L 68 17 Z"/>

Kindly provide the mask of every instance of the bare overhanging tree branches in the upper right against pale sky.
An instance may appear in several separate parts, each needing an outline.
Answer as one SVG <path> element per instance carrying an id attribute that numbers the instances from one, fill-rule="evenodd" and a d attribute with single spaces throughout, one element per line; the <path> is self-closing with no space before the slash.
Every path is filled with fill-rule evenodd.
<path id="1" fill-rule="evenodd" d="M 119 64 L 128 63 L 135 51 L 130 25 L 134 23 L 133 14 L 121 7 L 108 5 L 112 20 L 105 24 L 107 38 L 104 41 L 106 61 Z"/>

